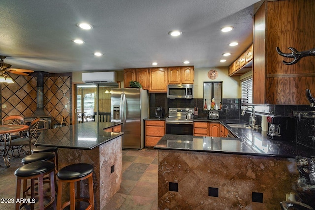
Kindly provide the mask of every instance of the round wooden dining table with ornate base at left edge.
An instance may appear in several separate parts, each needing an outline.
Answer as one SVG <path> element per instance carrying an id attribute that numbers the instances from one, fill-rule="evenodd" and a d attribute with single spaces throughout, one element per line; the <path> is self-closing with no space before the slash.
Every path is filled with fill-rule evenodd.
<path id="1" fill-rule="evenodd" d="M 17 133 L 27 129 L 29 129 L 28 125 L 0 125 L 0 146 L 4 146 L 3 160 L 6 168 L 10 167 L 10 159 L 12 157 L 8 155 L 12 141 L 11 133 Z"/>

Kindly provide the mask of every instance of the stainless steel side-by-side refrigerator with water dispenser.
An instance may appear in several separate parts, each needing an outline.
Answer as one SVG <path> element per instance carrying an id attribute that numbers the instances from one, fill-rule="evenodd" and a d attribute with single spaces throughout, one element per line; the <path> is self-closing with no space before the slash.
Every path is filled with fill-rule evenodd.
<path id="1" fill-rule="evenodd" d="M 148 92 L 141 88 L 111 90 L 111 122 L 122 122 L 123 149 L 144 147 L 144 122 L 148 117 Z"/>

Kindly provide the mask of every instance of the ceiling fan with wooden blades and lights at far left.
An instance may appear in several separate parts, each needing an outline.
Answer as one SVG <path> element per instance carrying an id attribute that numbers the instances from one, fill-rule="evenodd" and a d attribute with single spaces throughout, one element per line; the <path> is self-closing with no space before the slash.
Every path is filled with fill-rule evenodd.
<path id="1" fill-rule="evenodd" d="M 0 82 L 13 83 L 10 75 L 6 73 L 19 74 L 19 75 L 29 75 L 28 73 L 34 72 L 33 70 L 21 69 L 21 68 L 11 68 L 11 65 L 8 63 L 4 63 L 4 59 L 6 56 L 0 55 Z"/>

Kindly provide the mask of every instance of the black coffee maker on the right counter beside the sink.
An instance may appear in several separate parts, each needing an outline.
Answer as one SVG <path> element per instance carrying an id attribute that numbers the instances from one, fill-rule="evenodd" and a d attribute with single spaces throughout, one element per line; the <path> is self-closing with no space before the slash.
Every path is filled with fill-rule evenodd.
<path id="1" fill-rule="evenodd" d="M 294 137 L 294 119 L 280 115 L 268 115 L 267 136 L 274 140 L 290 140 Z"/>

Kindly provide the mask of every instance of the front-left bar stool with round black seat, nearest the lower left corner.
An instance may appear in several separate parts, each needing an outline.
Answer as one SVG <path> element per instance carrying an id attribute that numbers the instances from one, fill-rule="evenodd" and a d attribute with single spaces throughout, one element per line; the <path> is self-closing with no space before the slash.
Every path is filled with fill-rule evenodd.
<path id="1" fill-rule="evenodd" d="M 27 180 L 31 180 L 31 209 L 34 209 L 35 202 L 35 180 L 38 179 L 38 202 L 39 202 L 39 209 L 47 209 L 54 204 L 54 208 L 56 207 L 55 203 L 55 164 L 50 161 L 36 161 L 26 165 L 21 166 L 14 172 L 17 180 L 16 180 L 16 203 L 15 203 L 15 210 L 19 210 L 22 206 L 26 205 L 24 201 L 28 200 L 25 199 L 25 191 L 26 191 L 26 182 Z M 50 195 L 44 195 L 44 176 L 49 175 L 50 183 Z M 23 199 L 21 199 L 21 182 L 23 180 Z M 44 197 L 50 199 L 49 202 L 44 205 Z M 20 206 L 19 201 L 23 200 L 22 205 Z"/>

